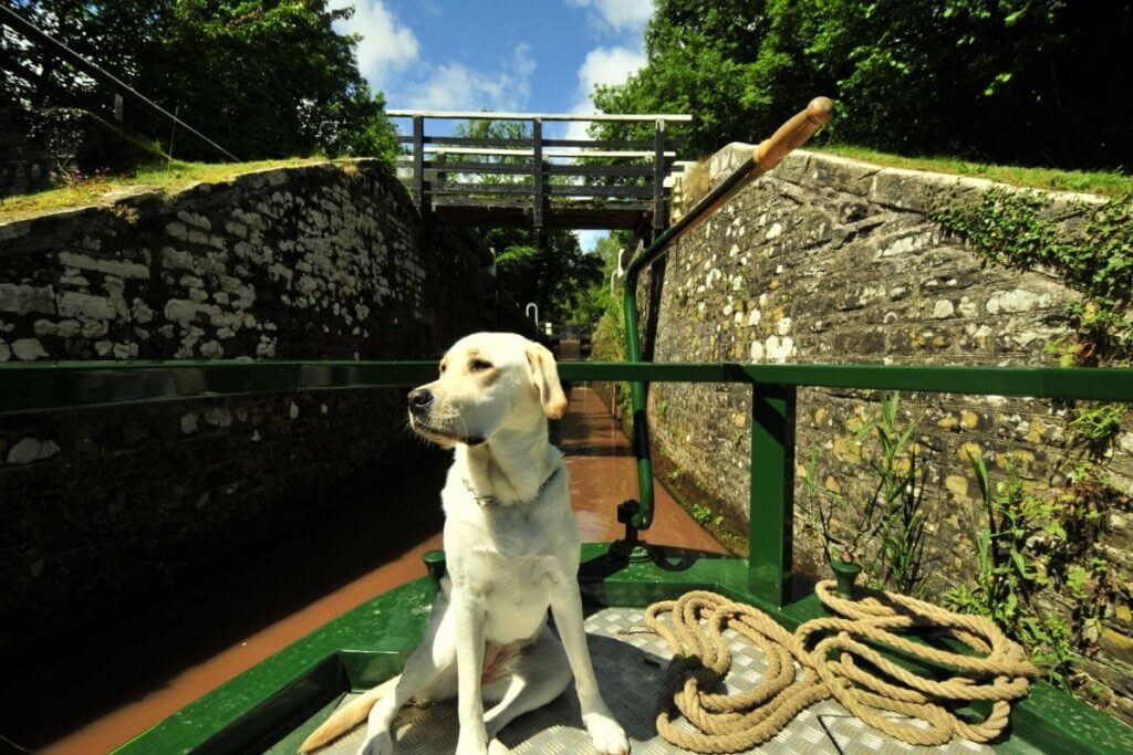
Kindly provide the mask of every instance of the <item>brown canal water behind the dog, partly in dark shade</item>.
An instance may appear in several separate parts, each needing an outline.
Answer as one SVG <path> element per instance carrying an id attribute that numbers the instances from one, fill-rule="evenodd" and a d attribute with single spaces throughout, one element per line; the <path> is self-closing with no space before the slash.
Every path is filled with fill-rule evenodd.
<path id="1" fill-rule="evenodd" d="M 574 388 L 555 441 L 566 454 L 583 541 L 622 534 L 637 496 L 633 452 L 597 394 Z M 0 679 L 0 735 L 52 755 L 107 753 L 355 606 L 425 575 L 441 547 L 445 456 L 385 470 L 356 500 Z M 657 486 L 651 542 L 724 552 Z M 7 745 L 0 740 L 0 752 Z M 12 750 L 17 752 L 17 750 Z"/>

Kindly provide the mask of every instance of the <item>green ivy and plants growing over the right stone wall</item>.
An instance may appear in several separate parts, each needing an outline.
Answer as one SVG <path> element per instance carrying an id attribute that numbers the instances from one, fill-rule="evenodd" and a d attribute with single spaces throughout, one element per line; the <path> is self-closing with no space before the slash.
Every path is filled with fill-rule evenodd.
<path id="1" fill-rule="evenodd" d="M 1128 363 L 1133 195 L 1070 211 L 1071 217 L 1058 220 L 1049 197 L 995 188 L 974 203 L 939 207 L 932 217 L 987 263 L 1054 274 L 1083 294 L 1070 308 L 1075 333 L 1048 349 L 1062 364 Z M 1104 472 L 1125 412 L 1121 404 L 1070 407 L 1070 484 L 1054 500 L 1031 495 L 1014 479 L 993 486 L 982 460 L 972 461 L 986 509 L 986 523 L 977 527 L 980 569 L 973 585 L 959 586 L 946 601 L 995 618 L 1063 687 L 1075 686 L 1073 654 L 1096 652 L 1101 619 L 1115 602 L 1130 600 L 1123 594 L 1128 575 L 1094 547 L 1105 514 L 1131 505 Z M 1046 587 L 1070 603 L 1068 621 L 1037 600 Z"/>

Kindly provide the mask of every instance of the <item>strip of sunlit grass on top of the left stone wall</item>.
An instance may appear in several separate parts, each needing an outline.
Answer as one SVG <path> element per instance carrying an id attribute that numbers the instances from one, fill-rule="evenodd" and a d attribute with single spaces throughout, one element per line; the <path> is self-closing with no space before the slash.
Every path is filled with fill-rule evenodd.
<path id="1" fill-rule="evenodd" d="M 0 222 L 8 222 L 73 207 L 109 204 L 118 192 L 145 188 L 173 194 L 197 182 L 219 183 L 240 173 L 272 168 L 295 168 L 326 162 L 325 157 L 289 157 L 248 163 L 187 163 L 179 160 L 138 169 L 126 175 L 76 177 L 63 185 L 0 199 Z"/>

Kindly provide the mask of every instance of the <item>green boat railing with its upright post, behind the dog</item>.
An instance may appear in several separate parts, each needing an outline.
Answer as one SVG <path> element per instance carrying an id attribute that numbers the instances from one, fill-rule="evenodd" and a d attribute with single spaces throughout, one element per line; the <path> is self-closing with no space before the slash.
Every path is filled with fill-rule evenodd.
<path id="1" fill-rule="evenodd" d="M 751 386 L 748 592 L 780 607 L 795 598 L 791 593 L 791 522 L 798 387 L 1133 402 L 1131 368 L 561 362 L 559 371 L 565 380 Z M 410 387 L 433 379 L 435 374 L 436 364 L 424 361 L 8 363 L 0 366 L 0 414 L 270 393 Z M 634 419 L 646 427 L 644 403 L 634 407 Z M 650 474 L 651 492 L 647 455 L 644 460 L 638 456 L 639 477 L 642 464 Z M 648 512 L 642 506 L 641 514 L 651 520 L 651 498 L 648 501 Z M 629 539 L 633 535 L 631 532 Z"/>

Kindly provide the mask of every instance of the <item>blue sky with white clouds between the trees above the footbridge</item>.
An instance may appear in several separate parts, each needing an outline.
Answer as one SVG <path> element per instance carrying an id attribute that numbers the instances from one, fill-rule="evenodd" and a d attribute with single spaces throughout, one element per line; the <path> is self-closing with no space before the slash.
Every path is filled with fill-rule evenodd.
<path id="1" fill-rule="evenodd" d="M 645 62 L 651 0 L 332 0 L 390 108 L 593 112 Z M 548 125 L 548 131 L 551 127 Z M 568 127 L 560 127 L 568 128 Z M 569 127 L 578 132 L 585 125 Z M 598 233 L 583 233 L 591 247 Z"/>

